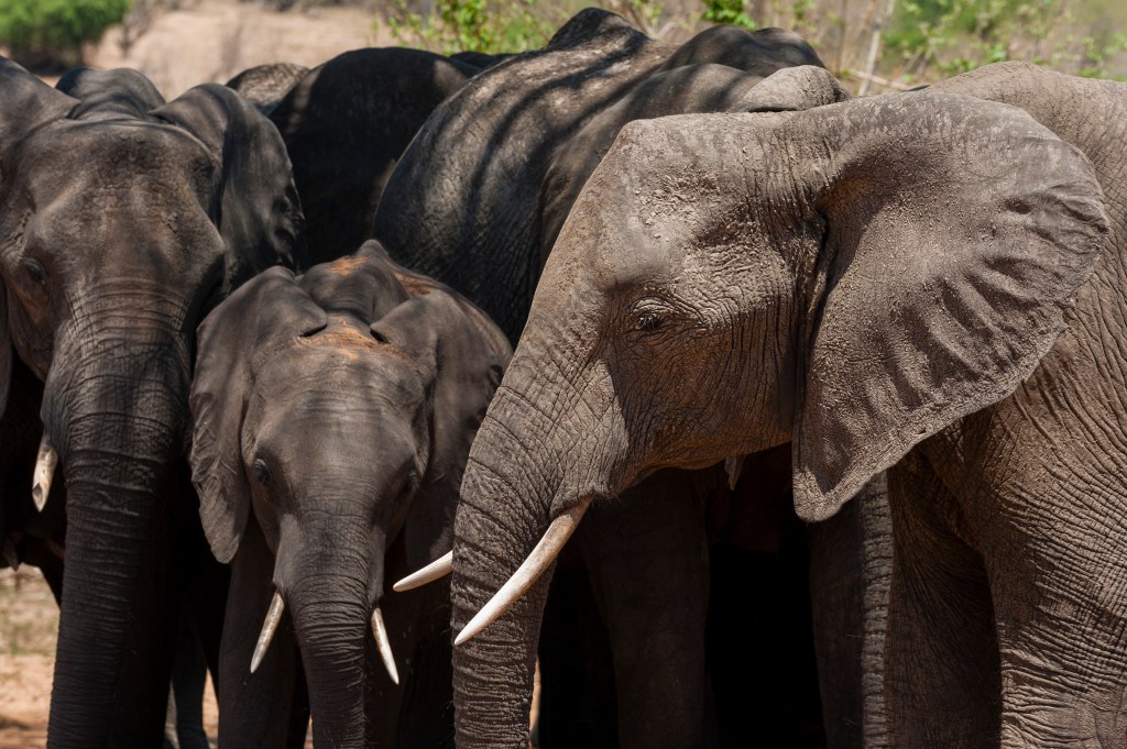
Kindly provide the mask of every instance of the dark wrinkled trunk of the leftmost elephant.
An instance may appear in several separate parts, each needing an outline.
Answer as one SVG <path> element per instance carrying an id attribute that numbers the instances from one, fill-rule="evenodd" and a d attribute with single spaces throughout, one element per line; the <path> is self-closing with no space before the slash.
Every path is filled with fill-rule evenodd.
<path id="1" fill-rule="evenodd" d="M 43 417 L 68 488 L 48 747 L 158 746 L 171 669 L 168 583 L 188 357 L 179 326 L 122 315 L 56 340 Z"/>

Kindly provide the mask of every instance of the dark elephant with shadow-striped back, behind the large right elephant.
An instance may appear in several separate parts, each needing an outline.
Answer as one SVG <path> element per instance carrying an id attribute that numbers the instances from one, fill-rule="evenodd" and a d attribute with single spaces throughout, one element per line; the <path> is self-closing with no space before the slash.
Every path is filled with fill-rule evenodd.
<path id="1" fill-rule="evenodd" d="M 717 27 L 676 47 L 646 38 L 611 14 L 584 11 L 543 51 L 480 73 L 440 105 L 392 175 L 373 233 L 401 261 L 470 296 L 516 340 L 541 256 L 598 151 L 622 124 L 676 112 L 800 108 L 835 100 L 840 87 L 822 81 L 756 86 L 780 68 L 816 62 L 801 39 L 774 29 L 747 34 Z M 616 746 L 620 734 L 636 746 L 690 746 L 707 734 L 708 519 L 717 516 L 716 497 L 729 491 L 725 483 L 719 469 L 699 475 L 668 472 L 631 490 L 631 497 L 646 498 L 644 511 L 627 501 L 621 509 L 601 508 L 588 524 L 549 603 L 540 648 L 543 746 Z M 760 499 L 777 503 L 784 496 L 760 493 Z M 777 519 L 782 521 L 781 512 Z M 788 541 L 804 543 L 793 536 Z M 773 553 L 777 547 L 756 549 Z M 570 563 L 575 556 L 586 561 L 585 570 Z M 802 590 L 788 595 L 792 600 L 781 605 L 805 598 Z M 657 614 L 639 606 L 663 596 L 669 605 Z M 609 633 L 592 632 L 588 608 L 600 610 Z M 809 623 L 790 627 L 787 636 L 786 645 L 772 650 L 787 650 L 804 637 L 809 648 Z M 606 661 L 613 657 L 616 688 L 604 693 L 605 686 L 591 686 L 586 674 L 568 674 L 588 667 L 576 654 L 580 644 L 603 651 L 598 656 L 605 653 Z M 731 660 L 730 654 L 718 660 L 726 658 Z M 589 668 L 601 684 L 598 669 L 607 667 Z M 531 671 L 509 676 L 498 678 L 520 692 L 516 685 L 531 679 Z M 748 680 L 740 677 L 740 683 Z M 527 701 L 531 681 L 525 686 Z M 490 721 L 523 731 L 526 707 Z M 746 711 L 734 712 L 731 722 L 746 717 Z M 778 719 L 764 716 L 781 723 Z M 855 712 L 850 719 L 859 720 Z M 491 731 L 481 726 L 482 734 Z M 780 743 L 798 740 L 791 734 Z"/>

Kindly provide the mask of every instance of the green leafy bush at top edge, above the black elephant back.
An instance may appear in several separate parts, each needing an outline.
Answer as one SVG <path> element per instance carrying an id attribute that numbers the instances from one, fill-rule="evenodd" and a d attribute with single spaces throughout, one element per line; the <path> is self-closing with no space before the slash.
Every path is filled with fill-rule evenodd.
<path id="1" fill-rule="evenodd" d="M 393 0 L 397 12 L 385 19 L 403 44 L 441 52 L 524 52 L 544 46 L 561 19 L 539 12 L 535 0 L 438 0 L 434 14 L 408 10 Z"/>

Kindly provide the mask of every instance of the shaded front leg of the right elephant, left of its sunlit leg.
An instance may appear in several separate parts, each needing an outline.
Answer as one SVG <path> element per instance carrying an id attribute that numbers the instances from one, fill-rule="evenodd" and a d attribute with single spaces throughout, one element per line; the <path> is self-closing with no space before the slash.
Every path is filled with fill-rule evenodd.
<path id="1" fill-rule="evenodd" d="M 952 533 L 956 503 L 923 460 L 888 472 L 893 579 L 885 647 L 889 740 L 997 746 L 1001 683 L 982 556 Z"/>

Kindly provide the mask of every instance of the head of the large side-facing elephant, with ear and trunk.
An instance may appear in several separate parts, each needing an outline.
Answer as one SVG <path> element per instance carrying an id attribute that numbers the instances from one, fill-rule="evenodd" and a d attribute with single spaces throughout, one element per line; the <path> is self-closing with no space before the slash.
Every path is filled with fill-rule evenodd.
<path id="1" fill-rule="evenodd" d="M 470 454 L 460 740 L 525 740 L 511 690 L 530 680 L 541 573 L 592 501 L 790 443 L 799 516 L 833 515 L 1033 371 L 1106 232 L 1086 158 L 977 99 L 624 127 L 562 226 Z"/>

